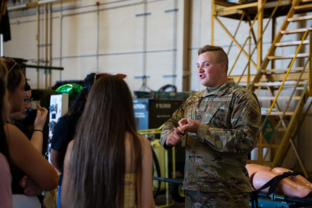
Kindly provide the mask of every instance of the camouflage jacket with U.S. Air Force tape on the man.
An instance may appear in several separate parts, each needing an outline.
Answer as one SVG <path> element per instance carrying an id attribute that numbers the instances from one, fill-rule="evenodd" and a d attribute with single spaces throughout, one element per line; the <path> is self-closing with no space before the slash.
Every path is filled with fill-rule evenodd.
<path id="1" fill-rule="evenodd" d="M 166 139 L 182 118 L 199 122 L 197 133 L 185 133 L 183 188 L 207 192 L 251 192 L 247 153 L 256 146 L 261 109 L 256 95 L 229 79 L 219 89 L 198 91 L 173 114 L 162 130 Z M 183 142 L 184 142 L 183 141 Z"/>

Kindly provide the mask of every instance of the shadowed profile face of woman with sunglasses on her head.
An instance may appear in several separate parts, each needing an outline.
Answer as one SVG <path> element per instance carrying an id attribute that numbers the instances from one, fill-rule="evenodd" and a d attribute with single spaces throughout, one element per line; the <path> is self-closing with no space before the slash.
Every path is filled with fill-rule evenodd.
<path id="1" fill-rule="evenodd" d="M 26 85 L 25 76 L 22 75 L 22 80 L 19 83 L 17 89 L 11 96 L 11 105 L 12 105 L 12 112 L 15 113 L 21 111 L 24 107 L 24 97 L 26 96 L 24 87 Z"/>

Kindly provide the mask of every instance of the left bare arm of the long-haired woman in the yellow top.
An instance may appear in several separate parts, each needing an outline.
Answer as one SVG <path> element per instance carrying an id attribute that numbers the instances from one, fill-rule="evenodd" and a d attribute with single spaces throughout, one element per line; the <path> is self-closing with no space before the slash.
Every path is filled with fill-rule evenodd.
<path id="1" fill-rule="evenodd" d="M 64 169 L 63 169 L 63 180 L 62 180 L 62 191 L 61 191 L 61 207 L 66 207 L 67 193 L 69 191 L 70 185 L 70 171 L 71 171 L 71 149 L 74 140 L 72 140 L 66 150 L 66 155 L 64 159 Z"/>

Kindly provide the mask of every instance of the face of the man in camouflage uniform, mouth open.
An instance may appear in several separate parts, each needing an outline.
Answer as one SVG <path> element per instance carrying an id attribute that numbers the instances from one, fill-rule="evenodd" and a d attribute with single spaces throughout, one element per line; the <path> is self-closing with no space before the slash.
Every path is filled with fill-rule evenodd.
<path id="1" fill-rule="evenodd" d="M 197 75 L 205 87 L 218 87 L 224 84 L 222 78 L 222 64 L 225 62 L 217 63 L 212 51 L 207 51 L 198 56 L 197 60 Z M 220 80 L 222 80 L 220 82 Z"/>

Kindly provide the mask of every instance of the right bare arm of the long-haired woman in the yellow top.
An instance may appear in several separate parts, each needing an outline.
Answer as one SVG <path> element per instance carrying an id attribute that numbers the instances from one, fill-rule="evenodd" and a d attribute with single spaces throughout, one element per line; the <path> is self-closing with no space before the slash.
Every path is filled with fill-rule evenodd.
<path id="1" fill-rule="evenodd" d="M 141 136 L 142 137 L 142 136 Z M 142 177 L 141 177 L 141 207 L 151 208 L 155 207 L 153 196 L 153 156 L 149 140 L 142 139 Z M 139 181 L 139 180 L 137 180 Z M 138 207 L 139 208 L 139 207 Z"/>

